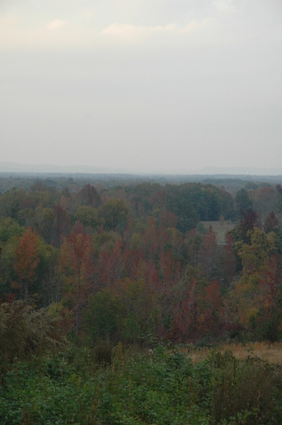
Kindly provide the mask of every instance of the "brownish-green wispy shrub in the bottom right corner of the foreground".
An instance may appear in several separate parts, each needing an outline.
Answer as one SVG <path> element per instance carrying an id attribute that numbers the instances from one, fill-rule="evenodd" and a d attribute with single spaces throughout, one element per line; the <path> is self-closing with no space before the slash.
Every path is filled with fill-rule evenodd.
<path id="1" fill-rule="evenodd" d="M 277 381 L 274 369 L 258 357 L 238 360 L 232 352 L 214 353 L 211 361 L 216 368 L 213 423 L 232 418 L 240 423 L 240 414 L 244 412 L 246 424 L 271 423 Z"/>

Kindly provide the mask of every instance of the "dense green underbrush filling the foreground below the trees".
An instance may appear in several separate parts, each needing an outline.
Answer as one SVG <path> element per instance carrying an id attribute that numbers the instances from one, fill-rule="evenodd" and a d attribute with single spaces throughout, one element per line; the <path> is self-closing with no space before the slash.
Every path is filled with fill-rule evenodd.
<path id="1" fill-rule="evenodd" d="M 68 347 L 1 365 L 1 424 L 281 424 L 282 370 L 257 357 Z"/>

